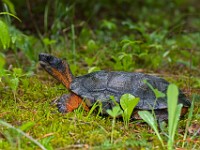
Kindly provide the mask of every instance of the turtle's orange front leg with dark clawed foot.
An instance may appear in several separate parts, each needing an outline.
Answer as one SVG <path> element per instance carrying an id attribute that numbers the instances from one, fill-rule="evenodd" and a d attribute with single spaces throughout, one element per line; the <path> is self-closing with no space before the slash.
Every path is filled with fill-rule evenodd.
<path id="1" fill-rule="evenodd" d="M 80 105 L 82 105 L 86 111 L 89 111 L 88 106 L 85 104 L 82 98 L 74 93 L 62 95 L 57 102 L 58 111 L 61 113 L 72 112 Z"/>

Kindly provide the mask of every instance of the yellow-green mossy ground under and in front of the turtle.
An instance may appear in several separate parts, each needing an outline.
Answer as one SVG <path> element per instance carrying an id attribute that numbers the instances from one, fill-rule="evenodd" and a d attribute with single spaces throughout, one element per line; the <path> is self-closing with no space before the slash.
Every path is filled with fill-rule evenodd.
<path id="1" fill-rule="evenodd" d="M 173 82 L 185 85 L 186 80 L 170 78 Z M 123 120 L 118 119 L 114 130 L 114 143 L 111 144 L 112 118 L 97 116 L 96 113 L 88 116 L 82 108 L 68 114 L 57 111 L 54 101 L 67 92 L 64 86 L 43 70 L 39 70 L 31 78 L 21 78 L 16 98 L 9 88 L 1 88 L 0 117 L 39 140 L 48 149 L 127 149 L 128 147 L 159 149 L 161 147 L 154 131 L 141 120 L 131 121 L 129 129 L 126 130 Z M 199 97 L 196 97 L 193 114 L 192 123 L 199 120 Z M 176 148 L 182 146 L 186 122 L 187 116 L 179 122 Z M 6 127 L 1 127 L 0 130 L 1 149 L 36 148 L 33 143 L 15 131 Z M 198 135 L 189 134 L 185 148 L 198 149 L 199 140 Z"/>

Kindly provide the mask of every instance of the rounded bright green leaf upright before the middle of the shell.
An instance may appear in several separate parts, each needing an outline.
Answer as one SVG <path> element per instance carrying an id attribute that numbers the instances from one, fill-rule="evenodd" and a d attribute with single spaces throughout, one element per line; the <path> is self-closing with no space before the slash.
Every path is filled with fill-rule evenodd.
<path id="1" fill-rule="evenodd" d="M 124 126 L 126 129 L 128 129 L 128 124 L 129 120 L 131 118 L 133 109 L 139 102 L 139 98 L 136 98 L 135 96 L 131 94 L 124 94 L 120 98 L 120 106 L 123 109 L 123 121 L 124 121 Z"/>

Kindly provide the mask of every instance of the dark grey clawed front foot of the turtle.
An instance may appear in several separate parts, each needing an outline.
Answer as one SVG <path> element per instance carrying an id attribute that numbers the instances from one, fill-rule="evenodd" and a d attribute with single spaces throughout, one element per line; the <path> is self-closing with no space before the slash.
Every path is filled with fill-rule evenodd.
<path id="1" fill-rule="evenodd" d="M 66 103 L 67 100 L 69 99 L 70 95 L 64 94 L 60 97 L 60 99 L 57 102 L 57 107 L 58 107 L 58 111 L 61 113 L 67 113 L 67 108 L 66 108 Z"/>

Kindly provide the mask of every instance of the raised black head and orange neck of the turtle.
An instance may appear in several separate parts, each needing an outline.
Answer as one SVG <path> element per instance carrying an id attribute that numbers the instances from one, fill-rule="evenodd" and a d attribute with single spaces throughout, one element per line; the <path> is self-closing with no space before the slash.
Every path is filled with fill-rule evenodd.
<path id="1" fill-rule="evenodd" d="M 70 71 L 69 65 L 64 60 L 56 58 L 50 54 L 40 53 L 39 62 L 42 68 L 69 89 L 73 75 Z"/>

